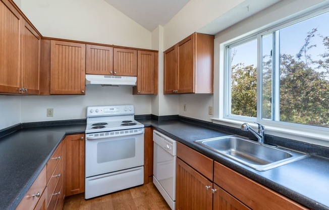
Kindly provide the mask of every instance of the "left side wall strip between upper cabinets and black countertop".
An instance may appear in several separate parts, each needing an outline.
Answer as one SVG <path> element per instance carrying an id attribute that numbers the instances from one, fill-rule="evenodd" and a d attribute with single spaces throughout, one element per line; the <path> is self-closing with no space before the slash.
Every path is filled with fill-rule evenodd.
<path id="1" fill-rule="evenodd" d="M 0 95 L 0 130 L 21 122 L 21 98 Z"/>

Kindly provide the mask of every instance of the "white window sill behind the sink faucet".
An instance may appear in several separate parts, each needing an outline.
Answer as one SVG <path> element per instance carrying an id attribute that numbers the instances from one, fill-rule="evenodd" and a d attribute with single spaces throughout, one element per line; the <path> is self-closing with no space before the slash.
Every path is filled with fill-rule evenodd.
<path id="1" fill-rule="evenodd" d="M 235 128 L 240 128 L 240 126 L 245 123 L 238 120 L 231 119 L 217 119 L 210 118 L 213 123 L 221 124 L 226 126 L 231 126 Z M 247 122 L 252 128 L 258 129 L 257 124 L 253 122 Z M 261 123 L 265 127 L 265 134 L 294 139 L 297 141 L 302 141 L 310 144 L 316 144 L 321 146 L 329 147 L 329 135 L 327 131 L 314 131 L 307 132 L 301 131 L 300 129 L 287 129 L 273 126 L 270 123 Z"/>

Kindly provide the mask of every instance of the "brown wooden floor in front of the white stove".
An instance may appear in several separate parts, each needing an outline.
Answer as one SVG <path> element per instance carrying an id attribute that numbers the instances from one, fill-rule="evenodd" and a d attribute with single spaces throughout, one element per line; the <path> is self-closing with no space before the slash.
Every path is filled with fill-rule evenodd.
<path id="1" fill-rule="evenodd" d="M 84 193 L 65 198 L 64 210 L 127 210 L 127 209 L 170 209 L 152 182 L 114 192 L 111 194 L 84 199 Z"/>

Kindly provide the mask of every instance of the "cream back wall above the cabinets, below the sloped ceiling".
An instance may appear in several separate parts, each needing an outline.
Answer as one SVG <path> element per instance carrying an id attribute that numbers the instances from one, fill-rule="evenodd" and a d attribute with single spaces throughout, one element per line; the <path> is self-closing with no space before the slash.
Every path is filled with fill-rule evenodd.
<path id="1" fill-rule="evenodd" d="M 103 0 L 21 0 L 46 37 L 151 48 L 151 33 Z"/>

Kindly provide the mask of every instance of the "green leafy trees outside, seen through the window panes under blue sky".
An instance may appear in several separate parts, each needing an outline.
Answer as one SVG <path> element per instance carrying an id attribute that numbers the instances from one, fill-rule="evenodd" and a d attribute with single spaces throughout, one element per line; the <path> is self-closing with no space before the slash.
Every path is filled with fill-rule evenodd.
<path id="1" fill-rule="evenodd" d="M 280 121 L 329 127 L 329 37 L 321 36 L 325 47 L 320 60 L 314 61 L 308 50 L 317 29 L 307 33 L 296 56 L 280 55 Z M 263 58 L 262 117 L 271 119 L 272 61 Z M 270 56 L 267 56 L 270 57 Z M 232 66 L 231 113 L 256 117 L 257 68 L 240 63 Z"/>

